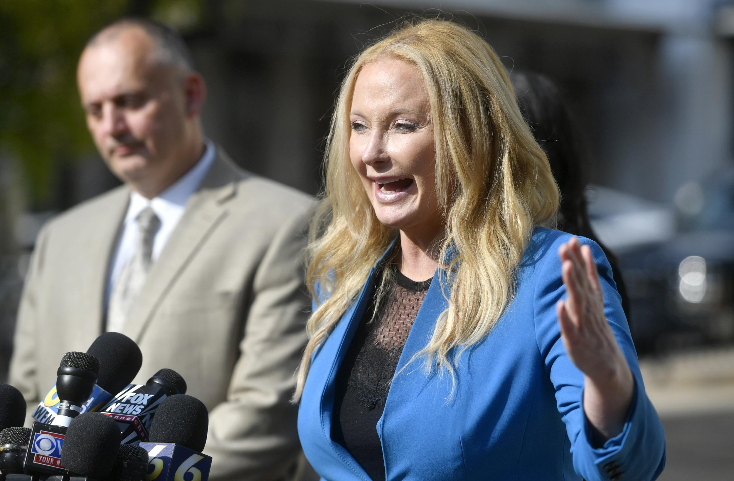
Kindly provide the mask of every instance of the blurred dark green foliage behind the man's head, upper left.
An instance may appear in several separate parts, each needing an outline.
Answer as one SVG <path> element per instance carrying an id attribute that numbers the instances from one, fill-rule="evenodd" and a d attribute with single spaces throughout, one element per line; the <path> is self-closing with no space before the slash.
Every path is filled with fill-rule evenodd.
<path id="1" fill-rule="evenodd" d="M 94 151 L 76 90 L 89 37 L 123 15 L 191 29 L 204 0 L 0 1 L 0 158 L 20 163 L 33 206 L 51 206 L 59 165 Z"/>

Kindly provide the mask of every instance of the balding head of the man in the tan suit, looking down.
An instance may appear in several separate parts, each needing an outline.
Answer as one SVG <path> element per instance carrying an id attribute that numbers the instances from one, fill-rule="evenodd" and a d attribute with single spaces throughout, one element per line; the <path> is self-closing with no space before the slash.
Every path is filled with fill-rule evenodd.
<path id="1" fill-rule="evenodd" d="M 120 21 L 90 40 L 79 59 L 87 127 L 112 173 L 148 198 L 181 178 L 203 152 L 198 73 L 167 56 L 139 23 Z"/>

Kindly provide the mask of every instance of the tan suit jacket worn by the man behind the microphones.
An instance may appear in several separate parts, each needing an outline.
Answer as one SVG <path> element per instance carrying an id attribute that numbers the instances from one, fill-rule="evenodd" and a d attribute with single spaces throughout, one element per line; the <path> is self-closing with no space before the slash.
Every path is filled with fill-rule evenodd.
<path id="1" fill-rule="evenodd" d="M 302 283 L 308 195 L 217 159 L 153 264 L 122 332 L 143 363 L 168 367 L 209 409 L 211 479 L 276 480 L 299 453 L 289 403 L 305 345 Z M 118 187 L 51 220 L 26 280 L 10 383 L 29 407 L 65 352 L 102 333 L 110 258 L 126 213 Z"/>

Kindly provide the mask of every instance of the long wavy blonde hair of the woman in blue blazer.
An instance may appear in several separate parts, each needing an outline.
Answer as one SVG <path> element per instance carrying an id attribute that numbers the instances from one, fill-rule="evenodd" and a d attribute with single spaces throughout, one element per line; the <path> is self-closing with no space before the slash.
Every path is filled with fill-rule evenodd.
<path id="1" fill-rule="evenodd" d="M 479 35 L 452 21 L 410 21 L 367 48 L 341 85 L 327 137 L 324 196 L 307 249 L 306 282 L 318 306 L 308 320 L 294 401 L 313 353 L 395 237 L 377 220 L 349 161 L 357 76 L 385 58 L 415 65 L 424 81 L 435 133 L 436 194 L 446 225 L 438 258 L 452 254 L 441 266 L 448 275 L 448 309 L 413 358 L 425 358 L 426 372 L 448 372 L 455 382 L 450 358 L 456 361 L 490 333 L 515 294 L 517 267 L 534 227 L 552 220 L 558 209 L 548 159 L 520 114 L 504 66 Z"/>

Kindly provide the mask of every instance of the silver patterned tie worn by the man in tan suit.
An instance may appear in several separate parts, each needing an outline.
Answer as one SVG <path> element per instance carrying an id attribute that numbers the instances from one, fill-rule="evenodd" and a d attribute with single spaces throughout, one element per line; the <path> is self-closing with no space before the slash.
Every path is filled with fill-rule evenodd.
<path id="1" fill-rule="evenodd" d="M 138 235 L 135 239 L 135 250 L 133 255 L 120 270 L 117 282 L 112 286 L 109 296 L 109 307 L 107 308 L 107 330 L 120 332 L 126 322 L 130 308 L 137 298 L 148 270 L 153 264 L 153 239 L 161 227 L 161 220 L 150 207 L 142 209 L 135 218 L 138 226 Z"/>

